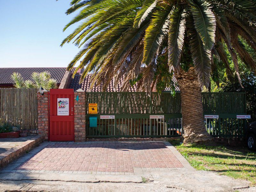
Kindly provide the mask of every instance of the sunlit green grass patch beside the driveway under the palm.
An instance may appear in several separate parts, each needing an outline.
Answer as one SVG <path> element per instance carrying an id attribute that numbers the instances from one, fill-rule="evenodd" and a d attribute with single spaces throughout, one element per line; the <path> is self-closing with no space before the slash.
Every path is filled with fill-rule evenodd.
<path id="1" fill-rule="evenodd" d="M 170 143 L 196 170 L 213 171 L 234 179 L 244 179 L 256 186 L 256 153 L 244 147 L 204 146 Z"/>

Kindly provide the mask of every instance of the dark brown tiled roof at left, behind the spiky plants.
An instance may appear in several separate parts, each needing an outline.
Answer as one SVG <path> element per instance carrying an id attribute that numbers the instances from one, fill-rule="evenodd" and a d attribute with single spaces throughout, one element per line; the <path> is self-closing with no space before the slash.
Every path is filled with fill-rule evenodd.
<path id="1" fill-rule="evenodd" d="M 0 68 L 0 84 L 13 84 L 11 75 L 13 72 L 20 73 L 24 80 L 31 79 L 33 72 L 48 71 L 51 74 L 51 78 L 55 79 L 60 84 L 61 79 L 66 71 L 65 67 L 58 68 Z"/>

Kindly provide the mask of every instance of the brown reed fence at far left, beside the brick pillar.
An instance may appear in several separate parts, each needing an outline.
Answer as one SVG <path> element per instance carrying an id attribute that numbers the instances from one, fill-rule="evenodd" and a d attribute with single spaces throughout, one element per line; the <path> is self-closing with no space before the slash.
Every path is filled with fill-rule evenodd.
<path id="1" fill-rule="evenodd" d="M 0 125 L 37 129 L 37 89 L 0 89 Z"/>

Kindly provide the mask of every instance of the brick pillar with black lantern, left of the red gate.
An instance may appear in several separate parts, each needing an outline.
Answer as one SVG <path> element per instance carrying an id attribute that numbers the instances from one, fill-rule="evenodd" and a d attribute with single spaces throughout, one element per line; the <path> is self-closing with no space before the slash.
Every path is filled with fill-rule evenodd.
<path id="1" fill-rule="evenodd" d="M 44 95 L 37 92 L 37 132 L 38 135 L 44 136 L 44 140 L 48 140 L 49 130 L 49 105 L 48 105 L 49 92 L 44 90 Z"/>

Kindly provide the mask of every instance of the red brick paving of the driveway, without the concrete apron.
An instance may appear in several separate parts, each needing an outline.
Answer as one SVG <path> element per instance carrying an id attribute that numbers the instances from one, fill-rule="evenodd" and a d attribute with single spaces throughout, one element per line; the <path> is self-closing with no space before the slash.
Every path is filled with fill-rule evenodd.
<path id="1" fill-rule="evenodd" d="M 181 167 L 181 162 L 164 142 L 98 141 L 49 142 L 14 170 L 129 173 L 136 168 L 168 170 Z"/>

